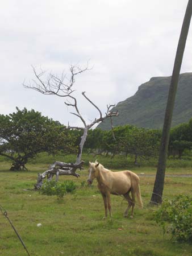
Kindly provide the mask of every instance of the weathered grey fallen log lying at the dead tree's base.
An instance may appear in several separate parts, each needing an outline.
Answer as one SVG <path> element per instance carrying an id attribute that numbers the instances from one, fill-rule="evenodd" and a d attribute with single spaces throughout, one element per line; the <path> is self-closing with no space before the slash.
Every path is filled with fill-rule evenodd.
<path id="1" fill-rule="evenodd" d="M 59 180 L 59 175 L 73 175 L 76 177 L 80 177 L 80 174 L 76 174 L 76 170 L 83 170 L 83 164 L 84 161 L 81 161 L 78 164 L 55 162 L 51 164 L 51 166 L 49 166 L 49 169 L 43 172 L 43 174 L 37 175 L 37 183 L 34 185 L 34 187 L 36 190 L 40 189 L 43 184 L 43 179 L 47 177 L 47 180 L 52 180 L 54 175 L 56 175 L 56 181 Z"/>

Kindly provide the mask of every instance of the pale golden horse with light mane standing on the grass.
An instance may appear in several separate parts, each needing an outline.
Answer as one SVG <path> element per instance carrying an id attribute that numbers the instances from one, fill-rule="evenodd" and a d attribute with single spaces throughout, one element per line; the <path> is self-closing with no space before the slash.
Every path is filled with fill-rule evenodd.
<path id="1" fill-rule="evenodd" d="M 131 171 L 112 172 L 99 164 L 89 162 L 89 177 L 87 183 L 91 184 L 94 179 L 98 181 L 98 188 L 102 194 L 105 205 L 105 217 L 107 217 L 107 206 L 111 217 L 110 194 L 123 195 L 128 201 L 128 207 L 124 212 L 124 217 L 128 216 L 128 210 L 132 207 L 131 218 L 133 217 L 133 209 L 135 207 L 135 195 L 141 208 L 143 207 L 139 177 Z M 130 197 L 129 193 L 131 191 Z"/>

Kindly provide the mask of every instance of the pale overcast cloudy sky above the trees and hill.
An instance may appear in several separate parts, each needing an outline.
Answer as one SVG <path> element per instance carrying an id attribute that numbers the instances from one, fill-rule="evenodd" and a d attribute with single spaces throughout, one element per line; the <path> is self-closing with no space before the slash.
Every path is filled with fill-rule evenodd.
<path id="1" fill-rule="evenodd" d="M 31 65 L 56 75 L 70 64 L 90 71 L 76 77 L 74 89 L 87 121 L 98 117 L 81 96 L 86 91 L 106 111 L 154 76 L 172 75 L 187 0 L 4 0 L 0 9 L 0 113 L 26 107 L 81 125 L 63 98 L 25 89 L 33 78 Z M 192 27 L 192 26 L 191 26 Z M 190 27 L 183 72 L 192 72 Z"/>

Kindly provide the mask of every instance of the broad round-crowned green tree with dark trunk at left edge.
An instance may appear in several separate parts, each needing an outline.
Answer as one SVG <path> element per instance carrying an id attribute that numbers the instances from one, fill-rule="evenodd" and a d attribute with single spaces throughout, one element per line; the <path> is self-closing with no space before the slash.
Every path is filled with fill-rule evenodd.
<path id="1" fill-rule="evenodd" d="M 26 169 L 27 160 L 39 152 L 55 154 L 74 150 L 74 138 L 69 131 L 33 109 L 16 108 L 12 114 L 0 115 L 0 138 L 0 155 L 13 161 L 11 170 Z"/>

